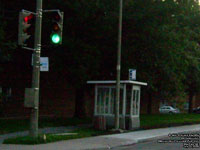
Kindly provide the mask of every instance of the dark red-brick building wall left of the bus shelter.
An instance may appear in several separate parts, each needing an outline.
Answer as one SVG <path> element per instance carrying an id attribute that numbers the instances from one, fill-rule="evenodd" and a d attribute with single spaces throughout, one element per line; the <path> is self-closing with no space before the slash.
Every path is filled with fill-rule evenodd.
<path id="1" fill-rule="evenodd" d="M 0 62 L 0 117 L 29 116 L 30 109 L 24 107 L 24 94 L 32 82 L 31 57 L 31 52 L 20 51 L 13 61 Z M 72 117 L 74 91 L 64 75 L 53 70 L 41 72 L 40 116 Z"/>

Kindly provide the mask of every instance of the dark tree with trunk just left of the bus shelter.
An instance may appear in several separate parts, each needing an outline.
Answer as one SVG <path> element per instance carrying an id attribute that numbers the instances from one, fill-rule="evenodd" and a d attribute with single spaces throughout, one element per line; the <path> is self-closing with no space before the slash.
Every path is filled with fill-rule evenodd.
<path id="1" fill-rule="evenodd" d="M 71 0 L 46 5 L 47 9 L 64 10 L 63 44 L 54 48 L 51 61 L 58 72 L 68 73 L 68 81 L 75 88 L 76 117 L 84 116 L 86 81 L 114 79 L 118 31 L 115 2 Z"/>

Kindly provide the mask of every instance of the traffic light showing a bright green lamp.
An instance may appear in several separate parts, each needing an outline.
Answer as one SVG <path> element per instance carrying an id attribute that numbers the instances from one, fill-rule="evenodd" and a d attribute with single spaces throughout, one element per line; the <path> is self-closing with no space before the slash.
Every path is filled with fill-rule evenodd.
<path id="1" fill-rule="evenodd" d="M 51 42 L 53 44 L 62 43 L 63 16 L 64 13 L 60 11 L 55 11 L 52 13 Z"/>

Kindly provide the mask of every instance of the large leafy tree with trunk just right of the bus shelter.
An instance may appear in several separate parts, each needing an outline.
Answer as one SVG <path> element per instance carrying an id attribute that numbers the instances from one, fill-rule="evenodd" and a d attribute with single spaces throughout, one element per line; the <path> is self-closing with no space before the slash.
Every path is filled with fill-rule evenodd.
<path id="1" fill-rule="evenodd" d="M 122 68 L 123 72 L 136 68 L 138 79 L 147 81 L 150 113 L 152 95 L 170 98 L 184 92 L 183 80 L 193 65 L 188 56 L 198 55 L 198 32 L 194 34 L 197 29 L 191 26 L 198 22 L 192 23 L 194 16 L 199 17 L 199 5 L 192 1 L 186 10 L 186 5 L 173 0 L 130 4 L 124 15 Z"/>

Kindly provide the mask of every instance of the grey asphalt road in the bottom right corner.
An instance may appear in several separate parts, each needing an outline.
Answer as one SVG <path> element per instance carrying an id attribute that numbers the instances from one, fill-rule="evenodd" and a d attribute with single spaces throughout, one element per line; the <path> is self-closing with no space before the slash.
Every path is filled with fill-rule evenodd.
<path id="1" fill-rule="evenodd" d="M 195 134 L 195 133 L 194 133 Z M 188 140 L 189 137 L 186 136 L 185 138 L 182 138 L 182 141 Z M 191 139 L 191 136 L 190 136 Z M 177 141 L 181 140 L 180 137 L 176 138 L 162 138 L 162 139 L 156 139 L 153 141 L 148 141 L 148 142 L 142 142 L 142 143 L 137 143 L 129 146 L 122 146 L 122 147 L 117 147 L 117 148 L 112 148 L 112 150 L 200 150 L 200 143 L 199 143 L 200 137 L 197 136 L 196 139 L 194 138 L 193 142 L 182 142 L 182 141 Z M 162 140 L 162 141 L 161 141 Z M 170 142 L 171 140 L 171 142 Z M 194 140 L 198 141 L 197 143 L 194 142 Z M 163 142 L 165 141 L 165 142 Z M 176 141 L 176 142 L 174 142 Z M 195 148 L 196 146 L 196 148 Z M 104 149 L 106 150 L 106 149 Z"/>

